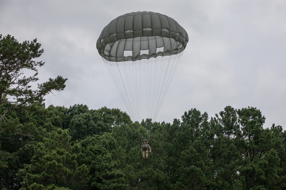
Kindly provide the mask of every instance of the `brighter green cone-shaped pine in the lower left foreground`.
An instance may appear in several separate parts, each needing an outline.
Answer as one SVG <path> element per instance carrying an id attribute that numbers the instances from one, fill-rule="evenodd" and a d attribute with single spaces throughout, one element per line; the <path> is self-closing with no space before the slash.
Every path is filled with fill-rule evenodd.
<path id="1" fill-rule="evenodd" d="M 58 129 L 38 143 L 31 164 L 19 170 L 21 189 L 79 189 L 88 183 L 88 167 L 76 161 L 80 146 L 70 139 L 68 130 Z"/>

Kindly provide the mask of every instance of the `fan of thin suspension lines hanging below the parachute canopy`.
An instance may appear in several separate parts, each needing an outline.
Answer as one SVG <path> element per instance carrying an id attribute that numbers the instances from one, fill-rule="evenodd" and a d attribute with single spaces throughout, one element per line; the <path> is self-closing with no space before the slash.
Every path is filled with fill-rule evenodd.
<path id="1" fill-rule="evenodd" d="M 133 121 L 156 120 L 182 54 L 121 62 L 102 57 Z"/>

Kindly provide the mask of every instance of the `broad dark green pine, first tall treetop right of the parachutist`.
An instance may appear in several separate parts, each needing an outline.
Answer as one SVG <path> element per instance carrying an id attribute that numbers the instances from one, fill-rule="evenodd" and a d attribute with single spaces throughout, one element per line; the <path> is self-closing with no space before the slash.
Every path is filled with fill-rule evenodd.
<path id="1" fill-rule="evenodd" d="M 206 189 L 214 181 L 209 155 L 214 133 L 208 114 L 191 109 L 182 116 L 182 123 L 174 120 L 173 125 L 177 129 L 167 160 L 171 166 L 169 178 L 175 183 L 170 189 Z"/>

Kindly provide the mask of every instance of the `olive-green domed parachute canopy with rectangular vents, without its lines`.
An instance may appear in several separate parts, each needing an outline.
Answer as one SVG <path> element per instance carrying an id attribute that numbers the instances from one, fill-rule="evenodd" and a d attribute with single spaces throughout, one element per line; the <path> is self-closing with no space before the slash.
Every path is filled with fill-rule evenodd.
<path id="1" fill-rule="evenodd" d="M 107 61 L 138 61 L 180 54 L 188 34 L 174 19 L 154 12 L 132 12 L 102 30 L 96 48 Z"/>

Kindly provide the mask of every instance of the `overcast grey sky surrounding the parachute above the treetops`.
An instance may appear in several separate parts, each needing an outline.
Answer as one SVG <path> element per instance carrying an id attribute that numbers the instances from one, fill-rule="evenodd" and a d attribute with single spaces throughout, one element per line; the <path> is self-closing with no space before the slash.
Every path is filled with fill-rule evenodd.
<path id="1" fill-rule="evenodd" d="M 228 105 L 252 106 L 266 117 L 264 128 L 286 130 L 285 0 L 1 0 L 0 33 L 42 44 L 39 83 L 68 78 L 64 91 L 46 96 L 46 107 L 127 111 L 96 41 L 111 20 L 137 11 L 167 15 L 189 35 L 156 121 L 172 123 L 192 108 L 214 117 Z"/>

